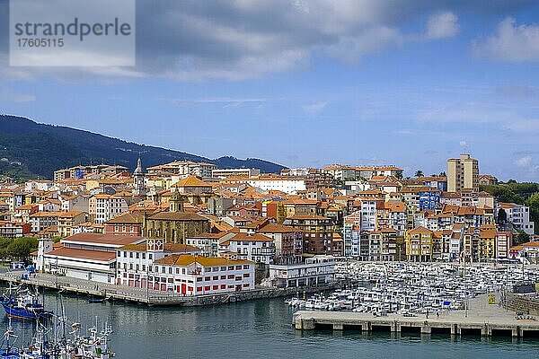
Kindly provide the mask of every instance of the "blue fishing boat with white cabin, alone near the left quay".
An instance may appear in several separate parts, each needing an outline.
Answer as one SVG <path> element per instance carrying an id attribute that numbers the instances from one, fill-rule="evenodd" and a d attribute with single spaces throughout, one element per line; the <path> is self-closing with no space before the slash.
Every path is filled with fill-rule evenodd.
<path id="1" fill-rule="evenodd" d="M 10 290 L 9 294 L 0 298 L 0 303 L 5 315 L 14 320 L 50 320 L 53 316 L 52 311 L 45 311 L 38 295 L 28 290 L 19 292 L 17 296 Z"/>

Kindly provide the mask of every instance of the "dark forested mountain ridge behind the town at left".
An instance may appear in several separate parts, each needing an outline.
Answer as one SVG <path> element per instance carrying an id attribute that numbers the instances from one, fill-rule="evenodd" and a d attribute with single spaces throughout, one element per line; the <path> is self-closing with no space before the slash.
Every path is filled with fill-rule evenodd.
<path id="1" fill-rule="evenodd" d="M 137 144 L 79 128 L 38 123 L 30 118 L 0 115 L 0 173 L 15 179 L 47 178 L 53 171 L 90 162 L 123 165 L 134 170 L 140 154 L 145 167 L 177 161 L 208 162 L 217 168 L 258 168 L 279 172 L 284 166 L 257 158 L 197 154 Z"/>

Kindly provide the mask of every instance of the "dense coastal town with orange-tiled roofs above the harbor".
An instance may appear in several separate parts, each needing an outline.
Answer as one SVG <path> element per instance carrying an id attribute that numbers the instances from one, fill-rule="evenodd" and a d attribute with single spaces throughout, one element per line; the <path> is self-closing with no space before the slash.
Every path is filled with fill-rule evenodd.
<path id="1" fill-rule="evenodd" d="M 480 190 L 497 179 L 470 154 L 446 163 L 414 177 L 393 165 L 80 165 L 4 181 L 0 235 L 36 238 L 38 273 L 185 297 L 323 287 L 349 260 L 537 263 L 530 208 Z"/>

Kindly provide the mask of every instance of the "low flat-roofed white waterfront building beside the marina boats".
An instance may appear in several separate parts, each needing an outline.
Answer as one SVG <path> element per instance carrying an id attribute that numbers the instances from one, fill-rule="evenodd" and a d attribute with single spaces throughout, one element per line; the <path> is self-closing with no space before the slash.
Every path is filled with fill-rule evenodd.
<path id="1" fill-rule="evenodd" d="M 316 286 L 335 280 L 332 256 L 306 258 L 305 263 L 286 266 L 270 265 L 270 281 L 278 287 Z"/>

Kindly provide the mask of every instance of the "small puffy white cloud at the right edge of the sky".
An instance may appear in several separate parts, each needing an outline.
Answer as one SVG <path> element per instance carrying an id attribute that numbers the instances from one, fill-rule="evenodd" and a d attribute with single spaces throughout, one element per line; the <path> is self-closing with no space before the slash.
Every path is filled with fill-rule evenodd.
<path id="1" fill-rule="evenodd" d="M 539 61 L 539 25 L 517 25 L 512 17 L 499 22 L 498 33 L 473 43 L 473 54 L 499 61 Z"/>

